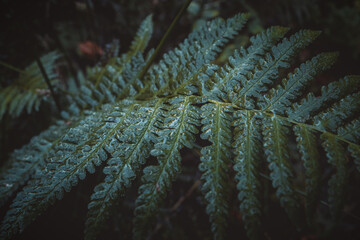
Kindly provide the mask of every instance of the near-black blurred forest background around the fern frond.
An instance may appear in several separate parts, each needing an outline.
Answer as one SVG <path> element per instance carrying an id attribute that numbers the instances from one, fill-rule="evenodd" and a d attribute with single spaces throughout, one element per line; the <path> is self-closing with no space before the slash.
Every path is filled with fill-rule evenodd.
<path id="1" fill-rule="evenodd" d="M 127 48 L 139 26 L 148 15 L 153 14 L 154 32 L 149 47 L 156 47 L 171 20 L 184 1 L 179 0 L 0 0 L 0 60 L 24 68 L 34 59 L 51 50 L 63 48 L 71 59 L 76 71 L 85 73 L 86 67 L 106 61 L 106 49 L 109 43 L 117 40 L 120 52 Z M 252 18 L 240 36 L 229 45 L 246 45 L 248 36 L 258 33 L 272 25 L 289 26 L 291 32 L 308 28 L 322 30 L 323 33 L 310 47 L 299 54 L 303 62 L 322 51 L 339 51 L 340 56 L 333 68 L 321 74 L 314 88 L 337 80 L 348 74 L 360 74 L 360 1 L 326 0 L 217 0 L 193 1 L 183 15 L 176 29 L 166 42 L 163 52 L 172 49 L 191 31 L 204 21 L 214 17 L 230 17 L 238 12 L 250 12 Z M 59 39 L 60 41 L 57 41 Z M 60 42 L 60 45 L 59 45 Z M 89 50 L 90 48 L 90 50 Z M 94 50 L 95 49 L 95 50 Z M 101 51 L 99 50 L 101 49 Z M 92 50 L 92 51 L 91 51 Z M 100 53 L 103 54 L 100 54 Z M 160 55 L 161 56 L 161 55 Z M 59 70 L 61 71 L 61 70 Z M 66 81 L 66 74 L 62 74 Z M 17 77 L 17 73 L 0 66 L 0 84 L 6 87 Z M 10 117 L 1 121 L 0 150 L 1 163 L 14 149 L 27 143 L 32 136 L 45 129 L 51 122 L 46 108 L 40 108 L 33 114 L 22 114 L 17 119 Z M 184 170 L 166 200 L 171 207 L 183 196 L 194 181 L 199 178 L 196 170 L 198 156 L 184 151 Z M 101 171 L 98 171 L 101 172 Z M 18 239 L 82 239 L 87 203 L 101 174 L 89 177 L 65 195 L 49 211 L 36 220 Z M 353 181 L 358 181 L 354 177 Z M 271 186 L 264 180 L 269 194 Z M 137 186 L 137 184 L 135 184 Z M 356 188 L 349 187 L 357 191 Z M 353 192 L 354 192 L 353 191 Z M 136 187 L 130 189 L 127 198 L 118 206 L 121 213 L 114 216 L 102 239 L 128 239 L 131 233 L 131 216 Z M 354 199 L 359 199 L 355 193 Z M 357 198 L 356 198 L 357 197 Z M 234 195 L 234 199 L 236 196 Z M 359 212 L 353 198 L 349 197 L 349 212 Z M 244 239 L 241 215 L 232 203 L 230 215 L 229 239 Z M 355 207 L 351 204 L 355 204 Z M 360 237 L 359 219 L 345 215 L 344 222 L 335 230 L 328 231 L 326 214 L 318 219 L 318 226 L 297 231 L 287 220 L 286 214 L 277 202 L 268 202 L 264 207 L 267 214 L 263 217 L 264 237 L 266 239 L 357 239 Z M 319 211 L 326 207 L 319 206 Z M 123 210 L 126 209 L 126 210 Z M 326 210 L 324 210 L 326 211 Z M 321 215 L 321 214 L 320 214 Z M 360 216 L 360 213 L 358 213 Z M 172 213 L 163 213 L 153 239 L 211 239 L 208 217 L 202 203 L 201 194 L 195 189 L 179 209 Z M 233 236 L 233 237 L 232 237 Z"/>

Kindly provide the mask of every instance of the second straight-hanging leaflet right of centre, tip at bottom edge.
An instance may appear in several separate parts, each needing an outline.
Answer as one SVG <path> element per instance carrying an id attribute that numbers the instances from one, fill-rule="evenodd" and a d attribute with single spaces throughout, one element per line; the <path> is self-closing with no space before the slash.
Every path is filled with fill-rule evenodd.
<path id="1" fill-rule="evenodd" d="M 250 239 L 260 236 L 260 181 L 259 165 L 261 155 L 260 117 L 251 111 L 234 113 L 235 126 L 235 179 L 238 181 L 240 211 Z"/>

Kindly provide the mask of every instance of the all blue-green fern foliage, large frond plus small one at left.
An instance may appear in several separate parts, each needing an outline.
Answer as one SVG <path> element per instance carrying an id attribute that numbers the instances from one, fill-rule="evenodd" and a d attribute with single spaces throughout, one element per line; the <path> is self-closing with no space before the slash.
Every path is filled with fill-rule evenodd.
<path id="1" fill-rule="evenodd" d="M 185 149 L 200 155 L 203 202 L 215 239 L 226 239 L 234 205 L 239 205 L 247 236 L 263 238 L 268 201 L 263 192 L 271 188 L 264 179 L 296 228 L 313 224 L 324 192 L 329 218 L 339 224 L 349 178 L 358 175 L 354 166 L 360 167 L 360 77 L 345 76 L 313 93 L 315 77 L 338 54 L 320 53 L 298 64 L 297 54 L 320 32 L 288 34 L 278 26 L 250 38 L 249 46 L 236 50 L 225 64 L 216 64 L 247 19 L 237 14 L 208 22 L 144 74 L 153 53 L 145 51 L 153 30 L 148 16 L 127 53 L 92 68 L 79 88 L 74 83 L 69 90 L 59 89 L 61 120 L 16 150 L 2 172 L 0 203 L 13 200 L 1 239 L 21 233 L 95 172 L 103 174 L 97 175 L 88 202 L 85 239 L 104 238 L 113 209 L 128 211 L 116 206 L 124 198 L 136 199 L 130 206 L 133 238 L 146 239 L 168 192 L 177 191 L 172 184 Z M 48 57 L 42 61 L 51 71 L 58 56 Z M 41 79 L 38 68 L 23 74 L 34 82 Z M 13 103 L 25 96 L 16 93 L 16 85 L 8 89 L 2 91 L 2 111 L 14 116 L 24 108 L 31 112 L 32 101 Z M 294 181 L 299 164 L 304 168 L 300 184 Z M 324 165 L 330 169 L 327 183 Z"/>

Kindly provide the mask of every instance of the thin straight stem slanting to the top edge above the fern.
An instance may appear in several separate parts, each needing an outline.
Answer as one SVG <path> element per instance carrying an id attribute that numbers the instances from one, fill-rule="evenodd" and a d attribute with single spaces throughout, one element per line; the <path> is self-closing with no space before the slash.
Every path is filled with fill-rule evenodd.
<path id="1" fill-rule="evenodd" d="M 151 64 L 153 63 L 153 61 L 155 60 L 156 56 L 159 54 L 161 48 L 163 47 L 165 41 L 168 39 L 170 33 L 172 32 L 172 30 L 174 29 L 176 23 L 179 21 L 181 15 L 185 12 L 185 10 L 187 9 L 187 7 L 189 6 L 189 4 L 191 3 L 192 0 L 186 0 L 186 2 L 183 4 L 183 6 L 181 7 L 180 11 L 178 12 L 178 14 L 176 15 L 176 17 L 174 18 L 174 20 L 171 22 L 169 28 L 167 29 L 166 33 L 164 34 L 164 36 L 162 37 L 162 39 L 160 40 L 159 44 L 157 45 L 154 53 L 151 55 L 149 61 L 147 61 L 145 67 L 143 68 L 143 70 L 140 72 L 138 78 L 142 79 L 144 77 L 144 75 L 146 74 L 146 72 L 149 70 Z"/>

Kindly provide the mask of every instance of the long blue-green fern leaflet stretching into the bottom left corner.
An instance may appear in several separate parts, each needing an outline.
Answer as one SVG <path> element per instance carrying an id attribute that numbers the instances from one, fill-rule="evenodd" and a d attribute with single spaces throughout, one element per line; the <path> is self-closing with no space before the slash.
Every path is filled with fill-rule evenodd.
<path id="1" fill-rule="evenodd" d="M 126 116 L 136 106 L 131 102 L 124 104 L 130 106 L 119 104 L 108 114 L 91 113 L 62 137 L 51 149 L 47 165 L 15 197 L 2 223 L 0 238 L 8 239 L 21 232 L 56 199 L 61 199 L 64 191 L 83 180 L 86 171 L 94 173 L 95 166 L 108 158 L 104 148 L 116 138 Z"/>

